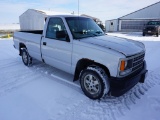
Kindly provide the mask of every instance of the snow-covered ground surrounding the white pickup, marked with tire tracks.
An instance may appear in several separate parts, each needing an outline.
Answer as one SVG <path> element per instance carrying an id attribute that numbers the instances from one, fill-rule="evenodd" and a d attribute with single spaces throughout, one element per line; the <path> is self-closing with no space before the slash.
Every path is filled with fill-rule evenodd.
<path id="1" fill-rule="evenodd" d="M 87 98 L 73 76 L 37 60 L 26 67 L 11 39 L 0 40 L 0 120 L 159 120 L 160 37 L 108 33 L 146 45 L 148 77 L 121 97 Z"/>

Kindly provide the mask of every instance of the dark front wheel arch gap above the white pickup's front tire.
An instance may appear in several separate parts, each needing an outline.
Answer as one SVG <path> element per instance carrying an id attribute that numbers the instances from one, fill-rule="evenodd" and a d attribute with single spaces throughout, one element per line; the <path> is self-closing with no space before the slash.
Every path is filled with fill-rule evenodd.
<path id="1" fill-rule="evenodd" d="M 98 62 L 95 62 L 94 60 L 90 60 L 90 59 L 87 59 L 87 58 L 82 58 L 77 62 L 76 69 L 75 69 L 75 74 L 74 74 L 74 81 L 78 80 L 81 71 L 83 69 L 87 68 L 90 65 L 96 65 L 96 66 L 101 67 L 106 72 L 108 77 L 110 77 L 109 69 L 105 65 L 100 64 Z"/>

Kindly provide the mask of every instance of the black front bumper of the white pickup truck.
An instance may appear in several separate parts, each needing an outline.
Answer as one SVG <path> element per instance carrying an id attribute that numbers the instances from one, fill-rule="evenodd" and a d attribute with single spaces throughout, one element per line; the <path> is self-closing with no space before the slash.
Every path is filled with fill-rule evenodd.
<path id="1" fill-rule="evenodd" d="M 143 69 L 137 73 L 123 78 L 110 78 L 110 95 L 119 97 L 134 87 L 138 82 L 144 83 L 146 73 L 146 62 L 144 61 Z"/>

